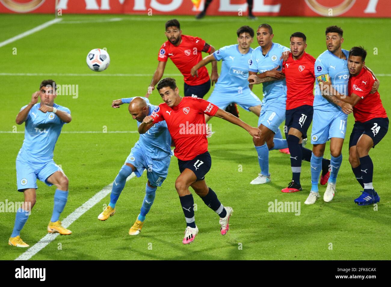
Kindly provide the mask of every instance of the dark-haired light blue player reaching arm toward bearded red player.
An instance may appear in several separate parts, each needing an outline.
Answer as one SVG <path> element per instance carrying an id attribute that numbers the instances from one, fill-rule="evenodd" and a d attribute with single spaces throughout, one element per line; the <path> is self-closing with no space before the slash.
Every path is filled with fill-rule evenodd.
<path id="1" fill-rule="evenodd" d="M 253 43 L 254 30 L 249 26 L 242 26 L 236 34 L 238 44 L 224 46 L 204 57 L 190 70 L 190 73 L 193 77 L 198 77 L 198 70 L 201 67 L 222 60 L 220 77 L 208 102 L 223 110 L 231 103 L 237 103 L 259 117 L 261 100 L 251 91 L 253 86 L 249 87 L 247 81 L 248 65 L 253 51 L 250 45 Z M 210 118 L 205 115 L 205 122 L 207 123 Z"/>

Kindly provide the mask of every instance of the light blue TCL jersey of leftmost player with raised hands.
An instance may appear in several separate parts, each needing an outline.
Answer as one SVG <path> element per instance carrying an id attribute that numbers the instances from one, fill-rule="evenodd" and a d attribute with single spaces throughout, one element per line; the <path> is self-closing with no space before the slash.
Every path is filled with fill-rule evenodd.
<path id="1" fill-rule="evenodd" d="M 22 111 L 27 105 L 22 107 Z M 25 139 L 18 158 L 32 163 L 43 163 L 53 159 L 54 146 L 64 122 L 53 112 L 39 111 L 41 103 L 36 103 L 29 111 L 25 121 Z M 59 111 L 70 114 L 66 107 L 54 104 Z"/>

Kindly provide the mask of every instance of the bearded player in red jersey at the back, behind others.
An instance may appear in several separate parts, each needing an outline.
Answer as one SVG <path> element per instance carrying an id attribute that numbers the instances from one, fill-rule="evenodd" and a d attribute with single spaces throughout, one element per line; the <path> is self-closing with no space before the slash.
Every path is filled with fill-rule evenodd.
<path id="1" fill-rule="evenodd" d="M 182 35 L 179 21 L 176 19 L 167 21 L 165 27 L 167 41 L 160 47 L 158 68 L 153 74 L 145 97 L 148 97 L 155 89 L 155 85 L 163 76 L 167 59 L 170 58 L 184 77 L 185 96 L 203 98 L 210 89 L 211 78 L 212 85 L 214 82 L 217 82 L 219 77 L 217 74 L 217 63 L 212 62 L 211 78 L 209 78 L 208 70 L 205 67 L 198 71 L 198 77 L 196 78 L 190 75 L 190 70 L 202 60 L 201 52 L 212 54 L 215 52 L 215 48 L 199 37 Z"/>

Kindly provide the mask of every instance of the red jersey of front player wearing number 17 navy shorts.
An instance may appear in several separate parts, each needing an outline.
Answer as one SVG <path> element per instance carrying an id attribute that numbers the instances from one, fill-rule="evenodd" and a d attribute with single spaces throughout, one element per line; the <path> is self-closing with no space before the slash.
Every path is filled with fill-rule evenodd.
<path id="1" fill-rule="evenodd" d="M 170 108 L 161 103 L 151 114 L 154 123 L 166 121 L 175 143 L 178 159 L 191 160 L 208 151 L 205 116 L 214 116 L 219 107 L 201 98 L 184 97 L 179 105 Z"/>

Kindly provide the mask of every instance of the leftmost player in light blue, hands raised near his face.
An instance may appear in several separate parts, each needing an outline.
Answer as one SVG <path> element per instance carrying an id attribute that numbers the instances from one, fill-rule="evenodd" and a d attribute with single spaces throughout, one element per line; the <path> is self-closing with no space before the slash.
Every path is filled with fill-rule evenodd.
<path id="1" fill-rule="evenodd" d="M 18 191 L 24 194 L 24 204 L 16 212 L 14 229 L 8 244 L 16 247 L 29 247 L 20 238 L 36 203 L 37 178 L 48 186 L 56 185 L 54 208 L 47 230 L 49 233 L 68 235 L 72 232 L 63 226 L 59 217 L 68 200 L 68 178 L 53 160 L 53 150 L 61 129 L 72 120 L 70 111 L 54 103 L 56 98 L 54 80 L 44 80 L 39 91 L 32 94 L 31 101 L 20 109 L 16 123 L 25 123 L 25 139 L 16 157 L 16 181 Z M 38 97 L 41 99 L 38 102 Z"/>

